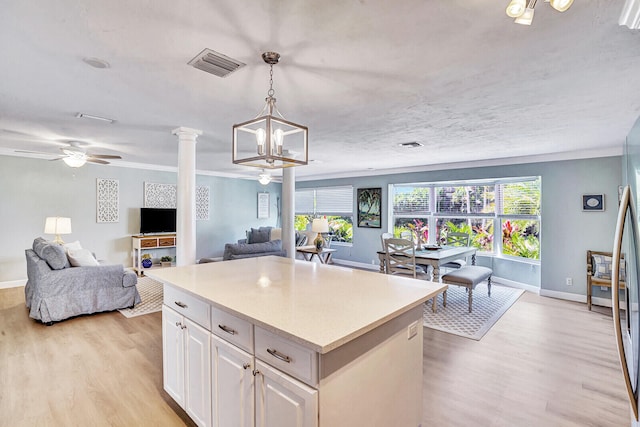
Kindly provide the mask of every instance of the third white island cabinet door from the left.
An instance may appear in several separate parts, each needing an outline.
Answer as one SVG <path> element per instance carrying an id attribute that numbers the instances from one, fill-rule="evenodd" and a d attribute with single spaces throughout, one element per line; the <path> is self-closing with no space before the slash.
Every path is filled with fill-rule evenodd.
<path id="1" fill-rule="evenodd" d="M 213 427 L 253 427 L 253 356 L 211 335 Z"/>

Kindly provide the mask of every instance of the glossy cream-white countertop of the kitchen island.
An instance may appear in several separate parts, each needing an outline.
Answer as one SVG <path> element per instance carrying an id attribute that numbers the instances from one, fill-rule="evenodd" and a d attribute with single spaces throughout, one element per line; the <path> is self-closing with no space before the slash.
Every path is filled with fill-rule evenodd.
<path id="1" fill-rule="evenodd" d="M 446 285 L 282 257 L 171 267 L 145 275 L 327 353 Z"/>

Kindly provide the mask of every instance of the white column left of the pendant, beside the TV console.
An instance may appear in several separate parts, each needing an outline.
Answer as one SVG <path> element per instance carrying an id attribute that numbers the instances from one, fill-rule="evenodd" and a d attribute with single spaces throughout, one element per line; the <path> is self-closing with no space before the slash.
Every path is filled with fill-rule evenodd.
<path id="1" fill-rule="evenodd" d="M 196 263 L 196 138 L 201 130 L 179 127 L 176 265 Z"/>

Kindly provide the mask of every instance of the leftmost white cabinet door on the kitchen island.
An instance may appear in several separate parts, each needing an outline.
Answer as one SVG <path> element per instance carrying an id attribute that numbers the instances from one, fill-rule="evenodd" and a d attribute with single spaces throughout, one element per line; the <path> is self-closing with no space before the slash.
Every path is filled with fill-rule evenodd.
<path id="1" fill-rule="evenodd" d="M 184 408 L 184 333 L 182 316 L 162 306 L 162 376 L 164 389 Z"/>

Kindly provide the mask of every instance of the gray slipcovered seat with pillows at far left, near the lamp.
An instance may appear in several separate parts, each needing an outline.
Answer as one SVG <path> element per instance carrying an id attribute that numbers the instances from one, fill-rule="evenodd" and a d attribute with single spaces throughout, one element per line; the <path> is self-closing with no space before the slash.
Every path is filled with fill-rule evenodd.
<path id="1" fill-rule="evenodd" d="M 61 245 L 42 238 L 25 254 L 25 302 L 29 316 L 42 323 L 140 303 L 138 277 L 122 265 L 72 267 Z"/>

